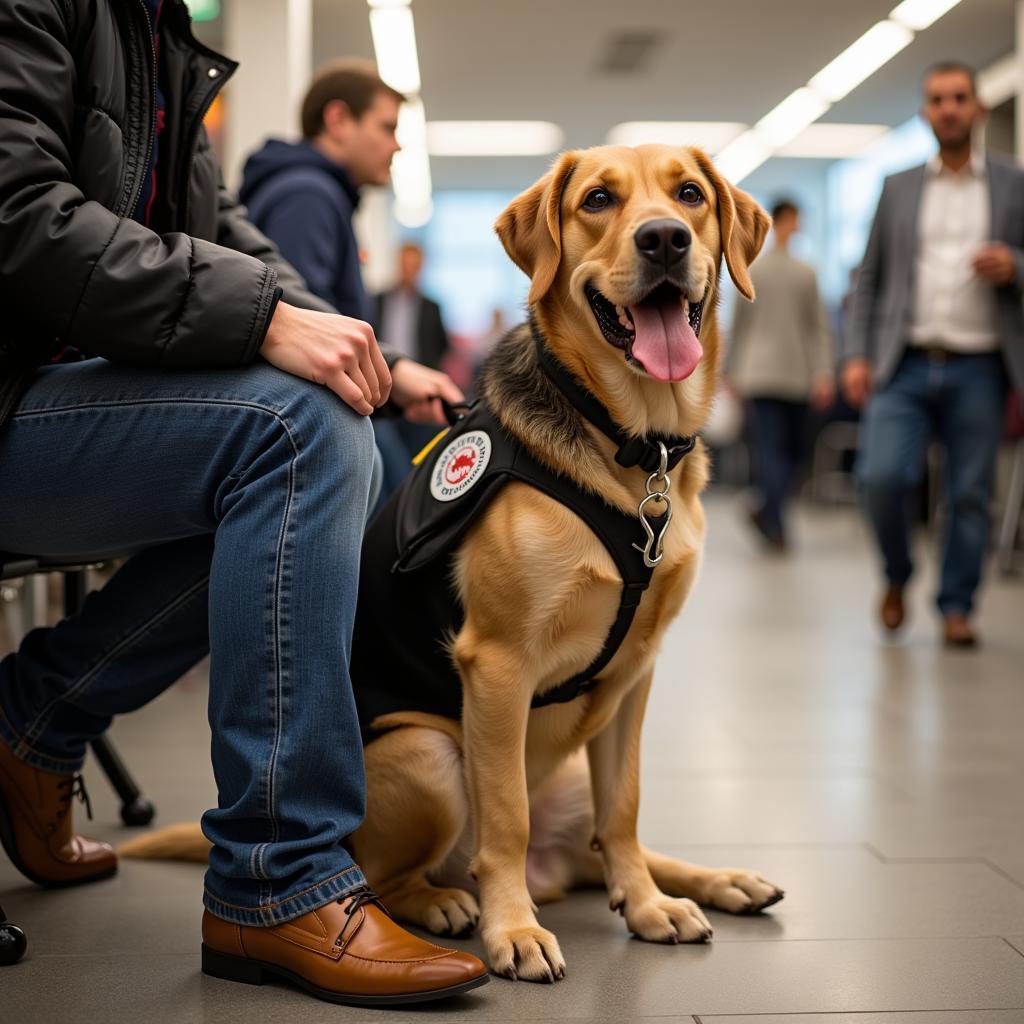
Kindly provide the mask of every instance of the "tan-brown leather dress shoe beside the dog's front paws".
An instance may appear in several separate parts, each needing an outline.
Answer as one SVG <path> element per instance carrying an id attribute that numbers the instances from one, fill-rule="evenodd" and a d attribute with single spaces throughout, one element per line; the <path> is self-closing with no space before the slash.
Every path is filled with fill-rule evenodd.
<path id="1" fill-rule="evenodd" d="M 425 1002 L 489 981 L 470 953 L 399 928 L 369 889 L 272 928 L 205 911 L 203 973 L 250 985 L 276 975 L 322 999 L 358 1007 Z"/>

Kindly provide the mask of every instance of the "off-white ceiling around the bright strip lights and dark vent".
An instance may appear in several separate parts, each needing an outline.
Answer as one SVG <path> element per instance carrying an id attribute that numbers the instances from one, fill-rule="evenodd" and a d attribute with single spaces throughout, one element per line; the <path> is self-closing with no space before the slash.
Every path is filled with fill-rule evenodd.
<path id="1" fill-rule="evenodd" d="M 428 120 L 554 121 L 567 146 L 586 146 L 623 121 L 753 124 L 895 2 L 413 0 L 413 11 Z M 1014 7 L 963 0 L 823 120 L 902 123 L 927 65 L 956 57 L 980 69 L 1014 49 Z M 365 0 L 313 0 L 313 11 L 314 65 L 373 56 Z M 657 37 L 646 65 L 602 71 L 609 38 L 637 30 Z M 435 187 L 518 188 L 548 163 L 434 157 L 431 171 Z"/>

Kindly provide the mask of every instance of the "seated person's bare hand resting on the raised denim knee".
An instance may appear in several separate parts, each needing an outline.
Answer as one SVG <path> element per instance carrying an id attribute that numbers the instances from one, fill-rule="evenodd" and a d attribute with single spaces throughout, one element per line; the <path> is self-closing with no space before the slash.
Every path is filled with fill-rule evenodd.
<path id="1" fill-rule="evenodd" d="M 362 321 L 279 302 L 260 347 L 279 370 L 329 387 L 346 406 L 369 416 L 391 392 L 391 374 Z"/>

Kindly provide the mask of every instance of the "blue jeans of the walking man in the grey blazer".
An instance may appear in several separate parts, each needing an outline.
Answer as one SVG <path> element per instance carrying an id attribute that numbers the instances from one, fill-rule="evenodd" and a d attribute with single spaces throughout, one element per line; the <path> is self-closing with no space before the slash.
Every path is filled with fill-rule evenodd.
<path id="1" fill-rule="evenodd" d="M 941 360 L 909 349 L 865 412 L 857 476 L 886 577 L 894 586 L 902 587 L 913 570 L 909 496 L 924 476 L 928 444 L 938 437 L 945 449 L 949 515 L 938 594 L 943 614 L 969 614 L 974 607 L 1006 393 L 998 355 Z"/>

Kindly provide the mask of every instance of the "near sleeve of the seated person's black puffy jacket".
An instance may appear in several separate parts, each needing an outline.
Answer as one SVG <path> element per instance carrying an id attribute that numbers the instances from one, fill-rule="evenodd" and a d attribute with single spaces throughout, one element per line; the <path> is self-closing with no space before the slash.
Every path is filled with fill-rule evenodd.
<path id="1" fill-rule="evenodd" d="M 62 10 L 0 4 L 0 300 L 38 356 L 59 339 L 139 365 L 249 361 L 275 271 L 186 234 L 162 238 L 76 185 L 76 69 Z"/>

